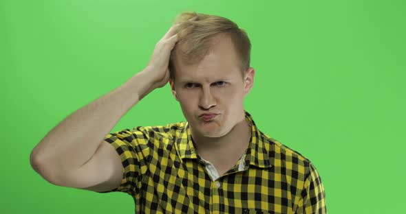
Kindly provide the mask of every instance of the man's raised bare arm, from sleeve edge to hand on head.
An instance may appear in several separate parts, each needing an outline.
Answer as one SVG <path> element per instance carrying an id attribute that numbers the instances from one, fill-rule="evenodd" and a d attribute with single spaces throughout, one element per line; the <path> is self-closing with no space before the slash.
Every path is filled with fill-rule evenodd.
<path id="1" fill-rule="evenodd" d="M 172 26 L 156 44 L 144 70 L 48 132 L 30 154 L 33 169 L 54 185 L 85 189 L 107 183 L 111 187 L 112 180 L 117 184 L 122 178 L 120 158 L 103 139 L 140 99 L 167 84 L 169 56 L 178 34 Z"/>

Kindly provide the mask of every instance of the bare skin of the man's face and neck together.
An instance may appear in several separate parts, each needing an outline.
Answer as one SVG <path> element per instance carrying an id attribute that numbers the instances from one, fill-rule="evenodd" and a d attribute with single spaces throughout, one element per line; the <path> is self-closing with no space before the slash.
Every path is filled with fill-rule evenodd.
<path id="1" fill-rule="evenodd" d="M 178 47 L 182 48 L 182 47 Z M 175 54 L 179 54 L 175 49 Z M 213 37 L 213 49 L 201 62 L 187 65 L 181 58 L 174 62 L 175 83 L 171 91 L 189 122 L 198 154 L 209 160 L 220 175 L 235 165 L 250 140 L 245 120 L 244 97 L 253 87 L 255 70 L 239 70 L 233 43 L 226 34 Z M 202 113 L 218 113 L 204 121 Z"/>

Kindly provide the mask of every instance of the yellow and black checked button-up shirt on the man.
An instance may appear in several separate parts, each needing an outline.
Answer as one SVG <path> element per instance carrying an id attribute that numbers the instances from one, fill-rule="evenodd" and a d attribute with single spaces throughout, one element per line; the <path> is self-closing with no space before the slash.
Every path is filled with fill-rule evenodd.
<path id="1" fill-rule="evenodd" d="M 193 146 L 189 123 L 138 126 L 107 134 L 120 154 L 120 187 L 136 213 L 327 213 L 321 178 L 310 160 L 252 128 L 245 154 L 215 176 Z M 215 170 L 214 170 L 215 171 Z"/>

